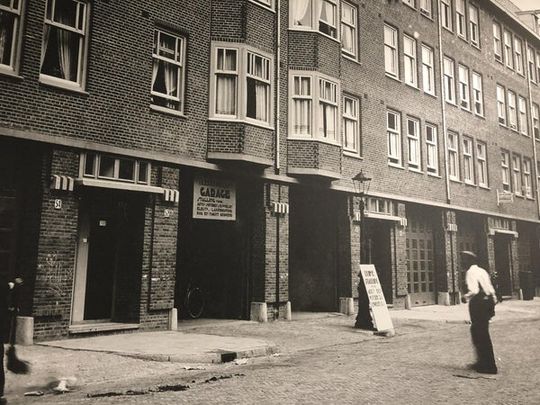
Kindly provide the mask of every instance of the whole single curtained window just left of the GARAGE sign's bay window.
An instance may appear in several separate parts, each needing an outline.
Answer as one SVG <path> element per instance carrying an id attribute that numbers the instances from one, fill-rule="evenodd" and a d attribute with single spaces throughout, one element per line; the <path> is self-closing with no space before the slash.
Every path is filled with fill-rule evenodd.
<path id="1" fill-rule="evenodd" d="M 152 52 L 152 104 L 183 111 L 185 39 L 154 30 Z"/>

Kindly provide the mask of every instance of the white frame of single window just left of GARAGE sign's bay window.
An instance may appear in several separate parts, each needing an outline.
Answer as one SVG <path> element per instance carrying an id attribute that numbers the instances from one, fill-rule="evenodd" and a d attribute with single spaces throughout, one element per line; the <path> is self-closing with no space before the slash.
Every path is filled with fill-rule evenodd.
<path id="1" fill-rule="evenodd" d="M 160 37 L 161 35 L 167 35 L 169 37 L 172 37 L 176 40 L 175 45 L 175 52 L 174 52 L 174 58 L 167 57 L 160 54 L 161 47 L 160 47 Z M 164 48 L 165 51 L 168 51 L 167 48 Z M 164 110 L 164 111 L 174 111 L 178 112 L 180 114 L 183 114 L 184 112 L 184 96 L 185 96 L 185 55 L 186 55 L 186 39 L 183 36 L 180 36 L 178 34 L 171 33 L 169 31 L 163 30 L 161 28 L 154 29 L 154 46 L 152 51 L 152 63 L 153 63 L 153 69 L 156 69 L 156 76 L 152 74 L 153 80 L 157 77 L 157 68 L 155 67 L 156 63 L 159 63 L 159 61 L 162 61 L 163 63 L 167 63 L 169 66 L 176 66 L 177 69 L 177 83 L 176 88 L 178 94 L 176 96 L 169 95 L 166 93 L 161 93 L 158 91 L 154 91 L 154 83 L 152 83 L 152 87 L 150 89 L 150 94 L 152 96 L 155 96 L 156 98 L 159 98 L 161 100 L 167 100 L 169 106 L 162 106 L 157 103 L 154 103 L 152 100 L 152 108 Z"/>

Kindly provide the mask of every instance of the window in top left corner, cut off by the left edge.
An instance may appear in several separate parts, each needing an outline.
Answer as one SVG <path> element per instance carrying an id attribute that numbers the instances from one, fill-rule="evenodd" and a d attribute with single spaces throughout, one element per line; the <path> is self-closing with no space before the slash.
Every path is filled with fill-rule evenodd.
<path id="1" fill-rule="evenodd" d="M 0 1 L 0 72 L 15 73 L 21 38 L 22 0 Z"/>

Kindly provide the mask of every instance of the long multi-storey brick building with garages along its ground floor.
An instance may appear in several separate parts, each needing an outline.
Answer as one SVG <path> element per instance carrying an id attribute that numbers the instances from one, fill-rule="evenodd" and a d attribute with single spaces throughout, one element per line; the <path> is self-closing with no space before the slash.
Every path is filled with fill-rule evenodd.
<path id="1" fill-rule="evenodd" d="M 360 263 L 395 307 L 454 304 L 463 249 L 503 295 L 536 287 L 530 21 L 499 0 L 0 1 L 0 272 L 34 336 L 166 328 L 191 285 L 209 317 L 336 311 Z"/>

